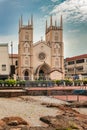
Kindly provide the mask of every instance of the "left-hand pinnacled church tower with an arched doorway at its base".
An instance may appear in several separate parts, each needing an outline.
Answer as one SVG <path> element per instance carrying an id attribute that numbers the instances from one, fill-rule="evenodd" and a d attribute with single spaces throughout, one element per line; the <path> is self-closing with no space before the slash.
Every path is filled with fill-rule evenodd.
<path id="1" fill-rule="evenodd" d="M 19 20 L 19 45 L 18 45 L 18 76 L 22 80 L 33 78 L 33 17 L 28 25 L 23 25 L 22 16 Z"/>

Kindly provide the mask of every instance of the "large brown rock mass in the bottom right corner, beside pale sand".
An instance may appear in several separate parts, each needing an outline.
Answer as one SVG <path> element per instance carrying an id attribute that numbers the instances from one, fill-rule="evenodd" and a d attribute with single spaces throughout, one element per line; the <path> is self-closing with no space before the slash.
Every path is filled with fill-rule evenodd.
<path id="1" fill-rule="evenodd" d="M 57 130 L 87 130 L 87 115 L 80 114 L 76 110 L 65 105 L 56 106 L 55 104 L 51 104 L 51 107 L 57 107 L 58 109 L 62 110 L 62 113 L 55 117 L 41 117 L 41 121 L 47 123 L 49 126 Z"/>

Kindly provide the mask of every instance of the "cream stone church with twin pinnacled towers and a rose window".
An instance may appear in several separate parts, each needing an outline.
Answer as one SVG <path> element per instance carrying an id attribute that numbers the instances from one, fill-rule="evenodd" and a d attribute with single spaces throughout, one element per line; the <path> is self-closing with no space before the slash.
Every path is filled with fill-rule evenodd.
<path id="1" fill-rule="evenodd" d="M 46 21 L 45 41 L 33 43 L 33 17 L 28 25 L 19 20 L 18 76 L 22 80 L 56 80 L 64 78 L 63 21 L 50 25 Z M 38 33 L 38 32 L 37 32 Z"/>

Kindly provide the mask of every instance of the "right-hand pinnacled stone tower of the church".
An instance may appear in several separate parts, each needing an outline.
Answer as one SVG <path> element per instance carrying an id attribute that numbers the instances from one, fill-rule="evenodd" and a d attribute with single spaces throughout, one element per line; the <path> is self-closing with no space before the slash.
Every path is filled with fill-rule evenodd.
<path id="1" fill-rule="evenodd" d="M 64 73 L 64 45 L 63 45 L 63 24 L 62 16 L 60 18 L 60 26 L 53 24 L 52 16 L 50 16 L 50 26 L 46 21 L 45 32 L 46 43 L 51 47 L 51 69 L 55 69 Z M 62 76 L 63 78 L 63 76 Z"/>

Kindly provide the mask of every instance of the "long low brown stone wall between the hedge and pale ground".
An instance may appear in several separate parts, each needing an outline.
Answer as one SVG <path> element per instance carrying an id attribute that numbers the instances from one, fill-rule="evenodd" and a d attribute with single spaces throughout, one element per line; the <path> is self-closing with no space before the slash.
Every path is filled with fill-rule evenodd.
<path id="1" fill-rule="evenodd" d="M 17 96 L 50 96 L 50 95 L 66 95 L 72 94 L 73 90 L 31 90 L 31 89 L 2 89 L 0 90 L 0 97 L 17 97 Z"/>

